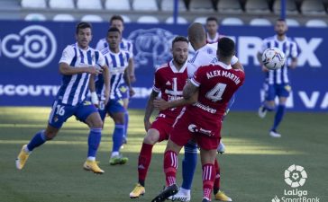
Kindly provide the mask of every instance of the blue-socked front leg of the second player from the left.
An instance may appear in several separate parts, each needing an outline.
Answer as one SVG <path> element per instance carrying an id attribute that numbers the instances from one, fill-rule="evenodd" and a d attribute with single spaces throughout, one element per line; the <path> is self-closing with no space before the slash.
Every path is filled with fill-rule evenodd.
<path id="1" fill-rule="evenodd" d="M 124 134 L 124 111 L 122 101 L 111 101 L 109 103 L 109 113 L 114 120 L 113 148 L 109 160 L 111 165 L 124 164 L 128 161 L 128 158 L 120 154 Z"/>

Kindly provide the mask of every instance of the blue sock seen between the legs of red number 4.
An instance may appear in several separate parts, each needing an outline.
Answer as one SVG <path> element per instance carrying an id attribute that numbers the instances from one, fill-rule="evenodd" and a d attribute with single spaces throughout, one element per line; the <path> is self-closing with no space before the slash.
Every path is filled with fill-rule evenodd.
<path id="1" fill-rule="evenodd" d="M 193 142 L 188 142 L 185 145 L 185 158 L 182 162 L 182 185 L 183 189 L 191 189 L 194 173 L 197 165 L 197 145 Z"/>

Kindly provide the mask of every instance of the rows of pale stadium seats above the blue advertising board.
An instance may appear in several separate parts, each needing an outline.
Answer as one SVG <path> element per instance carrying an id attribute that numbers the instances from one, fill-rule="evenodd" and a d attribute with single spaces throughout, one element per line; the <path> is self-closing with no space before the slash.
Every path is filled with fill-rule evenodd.
<path id="1" fill-rule="evenodd" d="M 0 19 L 23 20 L 29 13 L 40 13 L 51 21 L 64 10 L 64 13 L 73 15 L 76 21 L 86 14 L 96 14 L 102 19 L 121 14 L 130 19 L 126 22 L 137 22 L 142 15 L 152 15 L 159 22 L 166 22 L 172 16 L 173 2 L 174 0 L 0 0 Z M 279 2 L 280 0 L 178 0 L 178 14 L 187 22 L 212 15 L 220 21 L 231 17 L 239 18 L 243 24 L 249 24 L 255 17 L 274 22 L 279 17 Z M 328 23 L 328 0 L 286 2 L 287 18 L 294 19 L 300 26 L 318 18 Z M 290 26 L 297 26 L 294 22 L 290 23 L 293 23 Z"/>

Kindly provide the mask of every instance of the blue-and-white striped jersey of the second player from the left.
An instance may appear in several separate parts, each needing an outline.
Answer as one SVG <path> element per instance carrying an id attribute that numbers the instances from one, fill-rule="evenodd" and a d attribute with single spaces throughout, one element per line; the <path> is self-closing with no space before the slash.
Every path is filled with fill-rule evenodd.
<path id="1" fill-rule="evenodd" d="M 119 90 L 119 86 L 124 83 L 123 75 L 125 69 L 129 65 L 130 53 L 125 50 L 113 53 L 108 47 L 104 48 L 101 53 L 105 57 L 105 63 L 108 66 L 111 75 L 110 99 L 120 99 L 122 94 Z M 103 76 L 98 76 L 98 80 L 96 81 L 96 93 L 100 95 L 101 100 L 105 100 L 104 91 L 104 78 Z"/>

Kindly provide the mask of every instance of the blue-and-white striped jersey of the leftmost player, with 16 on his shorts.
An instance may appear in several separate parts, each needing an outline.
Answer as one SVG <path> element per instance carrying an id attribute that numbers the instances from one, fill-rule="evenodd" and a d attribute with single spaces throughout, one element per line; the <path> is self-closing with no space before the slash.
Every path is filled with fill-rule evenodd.
<path id="1" fill-rule="evenodd" d="M 59 63 L 68 66 L 105 66 L 105 58 L 94 48 L 80 49 L 76 44 L 68 45 L 61 55 Z M 84 101 L 88 92 L 90 74 L 63 75 L 62 83 L 56 98 L 64 104 L 75 106 Z"/>

